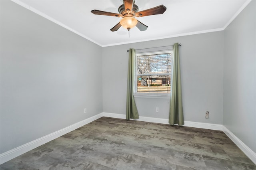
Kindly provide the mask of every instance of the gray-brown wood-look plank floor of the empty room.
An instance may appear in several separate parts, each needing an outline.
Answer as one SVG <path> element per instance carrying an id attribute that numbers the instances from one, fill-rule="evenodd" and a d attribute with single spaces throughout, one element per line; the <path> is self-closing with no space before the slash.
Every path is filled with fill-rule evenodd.
<path id="1" fill-rule="evenodd" d="M 1 170 L 256 170 L 222 132 L 102 117 Z"/>

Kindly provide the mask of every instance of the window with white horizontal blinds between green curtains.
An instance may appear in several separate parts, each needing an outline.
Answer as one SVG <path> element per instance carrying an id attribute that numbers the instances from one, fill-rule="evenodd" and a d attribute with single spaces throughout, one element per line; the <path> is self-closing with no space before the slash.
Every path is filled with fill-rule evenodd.
<path id="1" fill-rule="evenodd" d="M 172 50 L 136 53 L 135 95 L 170 95 Z"/>

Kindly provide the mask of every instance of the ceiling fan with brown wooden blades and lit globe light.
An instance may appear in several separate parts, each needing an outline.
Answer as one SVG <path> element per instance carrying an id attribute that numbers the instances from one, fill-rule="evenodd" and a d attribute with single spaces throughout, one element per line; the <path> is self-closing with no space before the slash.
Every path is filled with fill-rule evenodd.
<path id="1" fill-rule="evenodd" d="M 156 6 L 154 8 L 150 8 L 144 11 L 139 11 L 139 8 L 136 4 L 134 4 L 134 0 L 123 0 L 124 4 L 119 6 L 118 12 L 119 14 L 112 12 L 105 12 L 100 10 L 92 10 L 91 12 L 96 15 L 106 15 L 106 16 L 116 16 L 122 18 L 116 26 L 111 28 L 111 31 L 117 31 L 121 26 L 126 28 L 128 31 L 137 27 L 140 31 L 145 31 L 148 26 L 142 24 L 140 21 L 136 20 L 134 17 L 143 17 L 150 16 L 156 14 L 163 14 L 166 11 L 166 7 L 164 5 Z"/>

